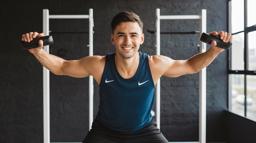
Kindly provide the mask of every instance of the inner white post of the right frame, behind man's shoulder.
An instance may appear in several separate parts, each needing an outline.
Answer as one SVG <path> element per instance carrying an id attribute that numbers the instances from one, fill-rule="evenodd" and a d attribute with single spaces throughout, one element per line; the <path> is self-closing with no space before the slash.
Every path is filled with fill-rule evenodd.
<path id="1" fill-rule="evenodd" d="M 160 55 L 160 9 L 156 9 L 156 55 Z M 157 81 L 156 88 L 156 122 L 160 129 L 160 78 Z"/>

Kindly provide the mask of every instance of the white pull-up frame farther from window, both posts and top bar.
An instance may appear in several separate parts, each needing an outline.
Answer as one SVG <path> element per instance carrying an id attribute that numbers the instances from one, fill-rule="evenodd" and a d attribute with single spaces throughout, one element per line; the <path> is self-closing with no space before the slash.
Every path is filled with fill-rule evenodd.
<path id="1" fill-rule="evenodd" d="M 49 35 L 49 19 L 89 19 L 89 56 L 93 55 L 93 9 L 89 9 L 89 15 L 49 15 L 48 9 L 43 9 L 43 33 Z M 49 53 L 49 45 L 44 46 Z M 43 67 L 43 134 L 44 143 L 50 143 L 50 88 L 49 70 Z M 93 77 L 89 76 L 89 130 L 93 121 Z"/>

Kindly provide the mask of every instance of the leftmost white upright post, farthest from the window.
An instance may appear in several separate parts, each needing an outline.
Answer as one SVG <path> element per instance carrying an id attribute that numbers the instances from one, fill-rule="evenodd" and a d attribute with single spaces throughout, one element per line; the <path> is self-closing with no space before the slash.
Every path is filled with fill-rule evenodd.
<path id="1" fill-rule="evenodd" d="M 49 35 L 49 10 L 43 9 L 43 33 Z M 49 53 L 49 45 L 44 46 Z M 44 143 L 50 143 L 50 76 L 49 70 L 43 67 L 43 136 Z"/>

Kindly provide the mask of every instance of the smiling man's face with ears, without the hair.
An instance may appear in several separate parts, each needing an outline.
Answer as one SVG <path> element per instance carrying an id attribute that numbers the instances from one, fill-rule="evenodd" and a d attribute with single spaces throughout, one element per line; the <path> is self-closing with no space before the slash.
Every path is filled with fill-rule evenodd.
<path id="1" fill-rule="evenodd" d="M 131 58 L 144 42 L 144 34 L 137 22 L 121 22 L 117 25 L 111 41 L 116 46 L 117 54 L 123 58 Z"/>

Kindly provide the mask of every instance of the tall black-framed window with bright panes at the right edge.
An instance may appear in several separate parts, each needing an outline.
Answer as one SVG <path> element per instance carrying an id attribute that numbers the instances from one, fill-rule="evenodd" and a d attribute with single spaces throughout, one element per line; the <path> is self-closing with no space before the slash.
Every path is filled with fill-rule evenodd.
<path id="1" fill-rule="evenodd" d="M 256 121 L 256 0 L 229 0 L 229 111 Z"/>

